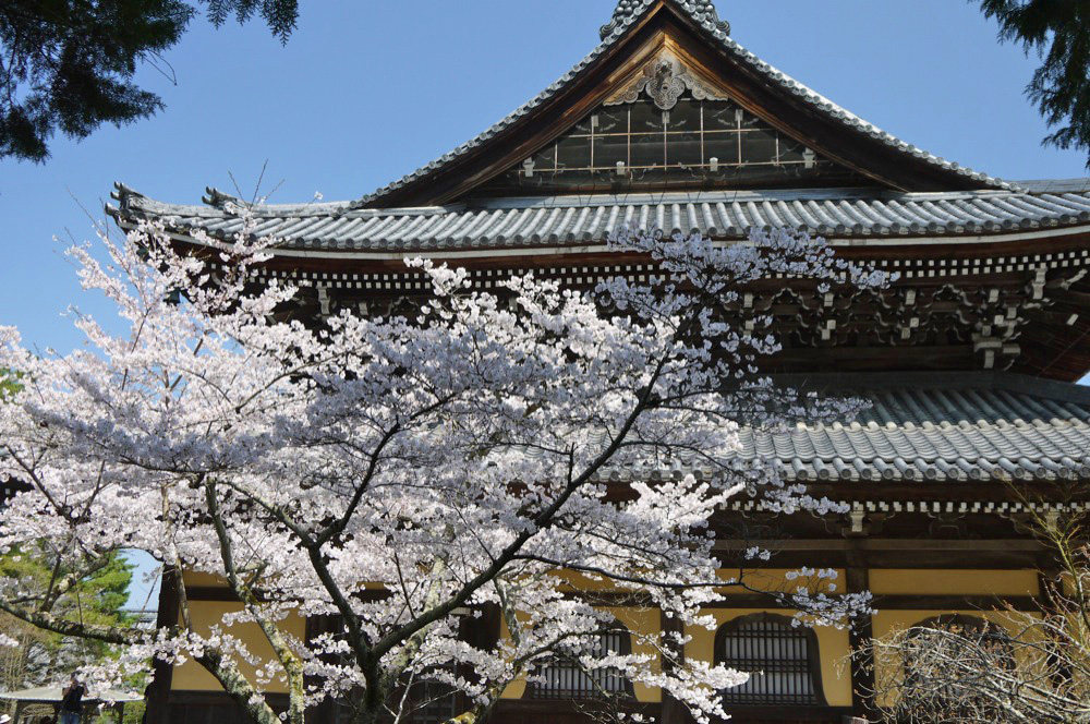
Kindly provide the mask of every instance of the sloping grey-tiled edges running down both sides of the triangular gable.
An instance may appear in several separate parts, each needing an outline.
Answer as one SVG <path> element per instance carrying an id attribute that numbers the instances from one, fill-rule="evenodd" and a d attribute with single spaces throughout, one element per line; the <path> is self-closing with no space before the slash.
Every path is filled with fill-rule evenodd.
<path id="1" fill-rule="evenodd" d="M 516 109 L 507 118 L 504 118 L 495 125 L 489 128 L 487 131 L 473 138 L 472 141 L 462 144 L 458 148 L 455 148 L 450 153 L 440 156 L 439 158 L 435 159 L 427 166 L 424 166 L 413 171 L 412 173 L 409 173 L 408 176 L 399 179 L 398 181 L 395 181 L 393 183 L 383 186 L 382 189 L 378 189 L 374 193 L 367 194 L 356 203 L 360 205 L 370 204 L 371 202 L 382 198 L 391 191 L 401 189 L 402 186 L 413 181 L 416 181 L 425 176 L 438 171 L 439 169 L 461 158 L 470 150 L 473 150 L 482 146 L 484 143 L 486 143 L 494 136 L 498 135 L 499 133 L 501 133 L 502 131 L 505 131 L 506 129 L 508 129 L 509 126 L 521 120 L 524 116 L 526 116 L 528 113 L 530 113 L 544 102 L 548 101 L 550 98 L 553 98 L 561 90 L 567 88 L 578 77 L 580 77 L 586 71 L 586 69 L 589 69 L 594 63 L 595 60 L 597 60 L 603 53 L 605 53 L 613 46 L 615 46 L 625 36 L 627 31 L 631 26 L 633 26 L 644 15 L 644 13 L 646 13 L 655 4 L 656 1 L 657 0 L 623 0 L 622 4 L 625 5 L 625 8 L 621 9 L 620 7 L 618 7 L 617 13 L 614 15 L 613 21 L 609 23 L 609 25 L 606 25 L 603 28 L 603 29 L 611 28 L 611 33 L 606 37 L 604 37 L 602 43 L 594 50 L 592 50 L 591 53 L 586 56 L 586 58 L 577 63 L 574 68 L 572 68 L 570 71 L 560 76 L 560 79 L 557 80 L 555 83 L 553 83 L 550 86 L 545 88 L 541 94 L 537 95 L 537 97 L 530 100 L 520 108 Z M 718 21 L 718 16 L 714 14 L 714 8 L 711 13 L 707 12 L 707 7 L 712 5 L 711 2 L 695 1 L 695 0 L 674 0 L 674 2 L 678 8 L 688 12 L 698 26 L 703 28 L 715 43 L 719 44 L 724 49 L 729 51 L 736 59 L 752 68 L 760 75 L 764 76 L 765 79 L 780 86 L 787 93 L 802 99 L 822 114 L 835 120 L 838 123 L 847 125 L 853 131 L 863 133 L 870 136 L 871 138 L 884 143 L 887 146 L 891 146 L 907 155 L 913 156 L 928 164 L 942 168 L 946 171 L 950 171 L 964 176 L 966 178 L 970 178 L 974 181 L 980 182 L 981 184 L 990 185 L 993 188 L 998 188 L 998 189 L 1015 188 L 1014 184 L 1005 182 L 1002 179 L 992 178 L 986 173 L 980 173 L 978 171 L 973 171 L 970 168 L 962 167 L 954 161 L 949 161 L 946 160 L 945 158 L 940 158 L 933 154 L 930 154 L 923 150 L 922 148 L 917 148 L 916 146 L 906 143 L 900 138 L 897 138 L 896 136 L 891 135 L 885 131 L 879 129 L 873 123 L 864 121 L 863 119 L 859 118 L 858 116 L 848 111 L 847 109 L 837 106 L 825 96 L 799 83 L 798 81 L 790 77 L 783 71 L 773 68 L 768 63 L 764 62 L 763 60 L 761 60 L 760 58 L 748 51 L 741 45 L 730 39 L 730 37 L 727 34 L 727 31 L 722 26 L 722 23 Z"/>

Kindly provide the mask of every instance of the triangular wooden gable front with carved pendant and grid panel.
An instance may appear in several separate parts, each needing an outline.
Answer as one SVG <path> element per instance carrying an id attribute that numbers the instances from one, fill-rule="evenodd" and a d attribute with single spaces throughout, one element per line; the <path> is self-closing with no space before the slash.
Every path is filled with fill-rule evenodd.
<path id="1" fill-rule="evenodd" d="M 670 45 L 578 123 L 473 194 L 873 185 L 743 108 L 727 83 Z"/>

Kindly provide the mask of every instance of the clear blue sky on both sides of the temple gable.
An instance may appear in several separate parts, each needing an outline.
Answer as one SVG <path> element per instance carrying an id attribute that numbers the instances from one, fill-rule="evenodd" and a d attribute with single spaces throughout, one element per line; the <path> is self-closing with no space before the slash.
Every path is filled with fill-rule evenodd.
<path id="1" fill-rule="evenodd" d="M 167 53 L 177 77 L 140 81 L 167 109 L 45 165 L 0 161 L 0 324 L 41 348 L 81 343 L 61 317 L 96 315 L 61 251 L 93 236 L 114 181 L 171 202 L 206 185 L 251 195 L 267 161 L 274 202 L 355 198 L 468 141 L 565 73 L 597 43 L 615 0 L 302 3 L 286 47 L 259 23 L 197 21 Z M 862 118 L 1006 179 L 1085 176 L 1075 152 L 1042 148 L 1022 95 L 1036 58 L 995 39 L 962 0 L 719 0 L 731 35 Z M 61 241 L 55 241 L 60 237 Z"/>

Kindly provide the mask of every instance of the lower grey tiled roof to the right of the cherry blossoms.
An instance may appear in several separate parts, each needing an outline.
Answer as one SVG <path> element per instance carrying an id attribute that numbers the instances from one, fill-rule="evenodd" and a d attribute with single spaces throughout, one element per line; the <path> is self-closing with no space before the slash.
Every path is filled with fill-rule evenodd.
<path id="1" fill-rule="evenodd" d="M 1008 374 L 856 375 L 848 423 L 743 429 L 742 455 L 788 480 L 976 482 L 1090 478 L 1090 388 Z M 639 476 L 617 472 L 615 479 Z"/>

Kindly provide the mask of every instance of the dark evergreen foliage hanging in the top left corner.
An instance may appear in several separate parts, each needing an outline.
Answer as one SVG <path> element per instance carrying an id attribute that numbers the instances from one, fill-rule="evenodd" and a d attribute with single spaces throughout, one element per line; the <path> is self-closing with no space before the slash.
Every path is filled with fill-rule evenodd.
<path id="1" fill-rule="evenodd" d="M 259 14 L 281 41 L 298 0 L 199 0 L 209 20 Z M 5 0 L 0 3 L 0 158 L 45 161 L 58 132 L 81 141 L 162 110 L 134 82 L 182 37 L 197 7 L 182 0 Z"/>

